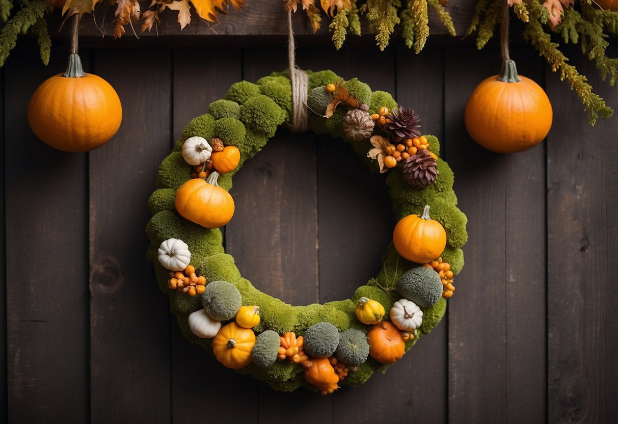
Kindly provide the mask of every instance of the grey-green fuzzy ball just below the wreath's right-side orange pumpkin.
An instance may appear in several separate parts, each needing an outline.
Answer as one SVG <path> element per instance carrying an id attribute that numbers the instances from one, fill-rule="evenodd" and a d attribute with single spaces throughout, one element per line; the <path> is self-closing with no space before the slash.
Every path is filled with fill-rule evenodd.
<path id="1" fill-rule="evenodd" d="M 419 307 L 428 308 L 442 299 L 442 282 L 432 268 L 417 266 L 405 271 L 399 278 L 397 291 Z"/>

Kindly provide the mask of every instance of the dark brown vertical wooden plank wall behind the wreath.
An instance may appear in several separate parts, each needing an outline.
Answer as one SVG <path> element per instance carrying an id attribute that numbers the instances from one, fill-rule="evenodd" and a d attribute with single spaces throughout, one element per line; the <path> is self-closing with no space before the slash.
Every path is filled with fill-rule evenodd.
<path id="1" fill-rule="evenodd" d="M 161 159 L 232 83 L 284 69 L 285 46 L 83 49 L 87 70 L 121 96 L 124 120 L 111 142 L 81 155 L 43 145 L 26 120 L 30 93 L 62 69 L 63 47 L 46 69 L 22 43 L 2 71 L 0 420 L 618 421 L 618 119 L 588 127 L 533 51 L 512 56 L 548 91 L 554 127 L 530 151 L 496 155 L 467 137 L 462 116 L 475 85 L 497 72 L 497 51 L 298 49 L 300 66 L 358 77 L 417 109 L 442 140 L 470 233 L 438 328 L 386 375 L 323 397 L 274 392 L 185 341 L 144 258 Z M 616 89 L 584 69 L 618 108 Z M 392 212 L 383 179 L 349 146 L 282 130 L 232 194 L 226 249 L 265 292 L 342 299 L 378 270 Z"/>

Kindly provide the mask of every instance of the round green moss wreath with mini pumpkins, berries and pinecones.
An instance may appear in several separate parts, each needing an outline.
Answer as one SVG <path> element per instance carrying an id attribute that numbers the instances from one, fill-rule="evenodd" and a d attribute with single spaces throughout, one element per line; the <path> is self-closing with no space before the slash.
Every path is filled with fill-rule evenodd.
<path id="1" fill-rule="evenodd" d="M 313 111 L 308 129 L 344 138 L 370 167 L 378 169 L 371 158 L 378 159 L 380 171 L 389 171 L 386 184 L 396 218 L 414 221 L 405 223 L 407 235 L 398 236 L 400 245 L 407 237 L 416 237 L 414 231 L 421 232 L 422 240 L 435 240 L 430 240 L 429 249 L 425 242 L 418 244 L 421 239 L 417 245 L 396 248 L 394 237 L 378 276 L 363 282 L 352 299 L 292 306 L 253 287 L 224 252 L 218 228 L 183 218 L 194 217 L 201 209 L 187 212 L 177 193 L 192 181 L 206 185 L 209 193 L 219 190 L 213 188 L 217 183 L 229 191 L 232 176 L 244 161 L 266 145 L 279 125 L 289 122 L 292 88 L 287 75 L 274 73 L 256 83 L 235 83 L 224 99 L 211 103 L 208 113 L 187 125 L 161 163 L 157 189 L 149 200 L 153 217 L 146 227 L 151 242 L 148 260 L 187 339 L 211 354 L 214 346 L 219 362 L 274 389 L 305 386 L 324 394 L 338 384 L 365 383 L 439 323 L 446 311 L 444 298 L 454 290 L 452 276 L 464 266 L 461 247 L 467 240 L 467 219 L 456 206 L 453 172 L 438 157 L 437 138 L 420 136 L 418 116 L 411 109 L 398 109 L 389 93 L 371 91 L 356 78 L 343 82 L 330 70 L 308 72 L 307 103 Z M 331 112 L 332 116 L 323 116 Z M 235 163 L 227 168 L 215 164 L 213 169 L 214 156 L 224 153 L 224 146 L 238 149 L 239 163 L 235 168 Z M 183 196 L 190 199 L 192 193 Z M 226 202 L 231 198 L 219 197 L 213 213 L 229 213 Z M 426 205 L 435 221 L 428 220 Z M 233 207 L 232 201 L 232 214 Z M 446 239 L 440 231 L 446 231 Z M 423 254 L 426 257 L 416 259 L 418 263 L 404 258 Z"/>

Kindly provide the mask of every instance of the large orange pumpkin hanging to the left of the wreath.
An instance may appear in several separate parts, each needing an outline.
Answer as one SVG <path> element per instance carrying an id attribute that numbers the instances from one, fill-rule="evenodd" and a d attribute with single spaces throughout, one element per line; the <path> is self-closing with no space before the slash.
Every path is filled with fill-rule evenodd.
<path id="1" fill-rule="evenodd" d="M 116 90 L 101 77 L 85 74 L 77 54 L 64 74 L 45 80 L 28 104 L 36 137 L 58 150 L 90 151 L 108 142 L 122 121 Z"/>

